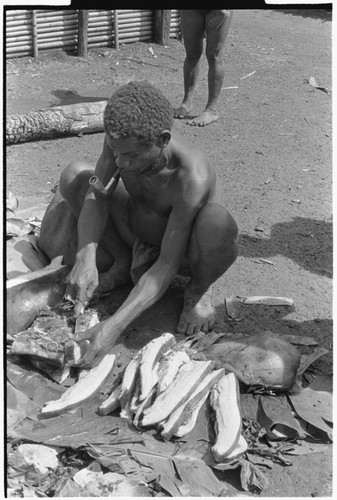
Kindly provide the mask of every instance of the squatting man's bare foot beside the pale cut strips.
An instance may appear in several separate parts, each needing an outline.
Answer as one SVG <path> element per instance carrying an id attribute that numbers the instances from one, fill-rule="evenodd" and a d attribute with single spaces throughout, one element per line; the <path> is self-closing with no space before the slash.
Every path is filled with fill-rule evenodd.
<path id="1" fill-rule="evenodd" d="M 214 328 L 214 309 L 211 305 L 211 293 L 207 291 L 201 297 L 185 292 L 184 309 L 177 326 L 178 333 L 195 335 L 198 332 L 210 332 Z"/>

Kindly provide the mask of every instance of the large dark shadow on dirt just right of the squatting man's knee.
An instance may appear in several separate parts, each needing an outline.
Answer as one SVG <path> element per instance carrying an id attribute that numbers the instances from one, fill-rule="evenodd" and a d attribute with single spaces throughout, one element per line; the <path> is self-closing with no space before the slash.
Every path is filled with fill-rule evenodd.
<path id="1" fill-rule="evenodd" d="M 239 237 L 240 254 L 251 258 L 284 255 L 311 273 L 332 278 L 332 222 L 304 217 L 272 226 L 270 238 Z"/>

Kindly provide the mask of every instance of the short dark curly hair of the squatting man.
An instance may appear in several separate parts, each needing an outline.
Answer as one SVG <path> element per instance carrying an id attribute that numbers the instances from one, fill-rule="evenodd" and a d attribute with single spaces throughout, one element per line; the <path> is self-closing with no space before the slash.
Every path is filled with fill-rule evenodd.
<path id="1" fill-rule="evenodd" d="M 147 81 L 120 87 L 104 110 L 104 129 L 113 139 L 132 137 L 150 145 L 163 130 L 171 130 L 172 123 L 169 100 Z"/>

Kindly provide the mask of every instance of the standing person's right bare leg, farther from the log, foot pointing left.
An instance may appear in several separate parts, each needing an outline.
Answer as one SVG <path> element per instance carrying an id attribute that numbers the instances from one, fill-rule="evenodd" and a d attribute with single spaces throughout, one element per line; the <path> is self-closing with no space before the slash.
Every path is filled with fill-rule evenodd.
<path id="1" fill-rule="evenodd" d="M 223 52 L 229 27 L 232 20 L 232 12 L 227 17 L 223 25 L 219 29 L 209 27 L 209 21 L 212 17 L 212 12 L 206 16 L 206 57 L 208 61 L 208 101 L 205 111 L 191 120 L 190 125 L 204 127 L 218 120 L 217 104 L 221 93 L 224 76 L 225 64 Z M 214 15 L 214 14 L 213 14 Z"/>

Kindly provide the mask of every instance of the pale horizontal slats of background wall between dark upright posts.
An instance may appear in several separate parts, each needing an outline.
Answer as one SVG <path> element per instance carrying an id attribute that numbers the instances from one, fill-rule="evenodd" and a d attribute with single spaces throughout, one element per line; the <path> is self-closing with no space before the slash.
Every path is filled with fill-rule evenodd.
<path id="1" fill-rule="evenodd" d="M 114 11 L 89 10 L 88 17 L 88 48 L 114 47 Z M 120 9 L 117 19 L 119 43 L 152 41 L 152 10 Z M 77 10 L 7 10 L 5 23 L 7 58 L 33 55 L 34 44 L 38 51 L 77 48 Z M 179 35 L 179 11 L 171 10 L 170 37 Z"/>

